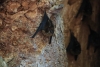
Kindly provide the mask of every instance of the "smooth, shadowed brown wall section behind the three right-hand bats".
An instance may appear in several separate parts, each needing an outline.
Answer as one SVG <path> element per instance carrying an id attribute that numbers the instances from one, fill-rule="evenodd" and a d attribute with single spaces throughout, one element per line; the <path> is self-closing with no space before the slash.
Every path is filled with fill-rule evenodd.
<path id="1" fill-rule="evenodd" d="M 100 30 L 99 19 L 97 19 L 100 13 L 98 6 L 100 1 L 90 0 L 92 4 L 92 15 L 87 17 L 84 21 L 82 21 L 82 14 L 79 14 L 79 16 L 75 18 L 81 2 L 82 0 L 68 0 L 63 2 L 65 5 L 63 9 L 65 45 L 67 47 L 69 44 L 70 29 L 81 44 L 81 54 L 78 56 L 77 61 L 74 60 L 73 56 L 67 53 L 68 67 L 99 67 L 99 50 L 94 53 L 94 47 L 91 46 L 89 50 L 86 48 L 88 35 L 90 34 L 88 24 L 97 33 L 99 33 L 98 30 Z"/>

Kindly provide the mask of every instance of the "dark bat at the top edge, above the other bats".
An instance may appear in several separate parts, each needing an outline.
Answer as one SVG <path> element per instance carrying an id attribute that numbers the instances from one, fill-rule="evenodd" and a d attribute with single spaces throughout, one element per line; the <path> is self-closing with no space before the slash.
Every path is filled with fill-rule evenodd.
<path id="1" fill-rule="evenodd" d="M 86 15 L 86 16 L 92 14 L 92 5 L 89 2 L 89 0 L 82 0 L 81 6 L 75 17 L 77 18 L 80 13 L 83 13 L 83 15 Z"/>

